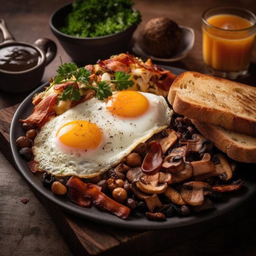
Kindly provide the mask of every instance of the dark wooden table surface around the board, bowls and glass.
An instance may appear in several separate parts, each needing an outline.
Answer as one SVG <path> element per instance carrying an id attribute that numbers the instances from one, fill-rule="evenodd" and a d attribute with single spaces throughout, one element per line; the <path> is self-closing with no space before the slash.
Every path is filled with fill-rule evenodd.
<path id="1" fill-rule="evenodd" d="M 51 13 L 68 2 L 70 0 L 1 1 L 0 18 L 6 21 L 16 40 L 33 43 L 36 39 L 45 37 L 54 40 L 57 44 L 56 58 L 45 68 L 41 83 L 45 83 L 49 78 L 55 76 L 56 69 L 60 65 L 58 55 L 62 57 L 63 62 L 72 61 L 49 29 Z M 189 55 L 181 61 L 164 63 L 164 65 L 198 72 L 206 72 L 201 49 L 202 12 L 209 7 L 232 4 L 245 7 L 256 13 L 254 0 L 233 0 L 232 2 L 230 0 L 134 0 L 134 2 L 135 8 L 141 12 L 143 19 L 135 31 L 135 39 L 139 34 L 139 29 L 148 20 L 160 16 L 171 18 L 180 25 L 194 29 L 195 44 Z M 1 41 L 2 35 L 0 35 Z M 238 81 L 255 85 L 255 45 L 249 74 Z M 28 94 L 29 92 L 21 94 L 0 92 L 0 109 L 20 103 Z M 54 220 L 48 215 L 44 205 L 7 160 L 5 150 L 2 149 L 2 151 L 0 152 L 0 255 L 72 255 L 71 249 L 67 246 L 67 240 L 63 239 L 61 231 L 54 225 Z M 24 198 L 29 198 L 27 204 L 21 202 Z M 182 256 L 215 255 L 217 253 L 226 256 L 256 255 L 255 206 L 251 206 L 250 211 L 227 226 L 211 229 L 205 234 L 184 240 L 150 255 Z"/>

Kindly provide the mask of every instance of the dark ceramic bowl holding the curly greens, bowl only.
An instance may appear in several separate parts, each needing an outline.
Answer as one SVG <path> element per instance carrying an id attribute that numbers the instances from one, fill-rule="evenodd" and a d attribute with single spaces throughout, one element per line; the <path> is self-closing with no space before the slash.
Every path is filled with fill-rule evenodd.
<path id="1" fill-rule="evenodd" d="M 128 51 L 128 45 L 137 25 L 132 25 L 123 32 L 109 36 L 79 38 L 62 33 L 58 30 L 65 24 L 67 14 L 72 11 L 72 3 L 57 9 L 50 17 L 52 33 L 76 64 L 95 64 L 99 59 L 110 58 L 113 54 Z"/>

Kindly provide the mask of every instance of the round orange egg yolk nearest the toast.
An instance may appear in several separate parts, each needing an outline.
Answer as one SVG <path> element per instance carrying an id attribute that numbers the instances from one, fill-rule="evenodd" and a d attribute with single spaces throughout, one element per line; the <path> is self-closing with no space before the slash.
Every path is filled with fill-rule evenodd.
<path id="1" fill-rule="evenodd" d="M 106 102 L 107 110 L 119 117 L 137 117 L 148 110 L 148 99 L 136 91 L 114 93 Z"/>

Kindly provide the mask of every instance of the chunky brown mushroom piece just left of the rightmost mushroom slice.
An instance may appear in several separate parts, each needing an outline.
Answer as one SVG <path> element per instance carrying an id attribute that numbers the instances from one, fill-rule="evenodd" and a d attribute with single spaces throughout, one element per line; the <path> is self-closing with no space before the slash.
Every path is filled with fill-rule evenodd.
<path id="1" fill-rule="evenodd" d="M 211 161 L 209 153 L 205 153 L 200 161 L 193 161 L 191 164 L 194 176 L 215 171 L 215 164 Z"/>

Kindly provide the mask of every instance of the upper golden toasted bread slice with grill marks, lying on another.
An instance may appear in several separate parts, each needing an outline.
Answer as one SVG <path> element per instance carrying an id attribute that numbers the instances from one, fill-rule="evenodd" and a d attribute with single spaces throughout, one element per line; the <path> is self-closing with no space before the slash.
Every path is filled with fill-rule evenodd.
<path id="1" fill-rule="evenodd" d="M 171 85 L 168 101 L 189 119 L 256 136 L 256 87 L 184 72 Z"/>

